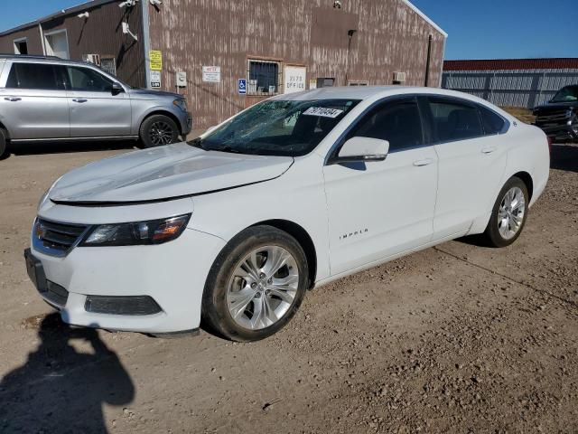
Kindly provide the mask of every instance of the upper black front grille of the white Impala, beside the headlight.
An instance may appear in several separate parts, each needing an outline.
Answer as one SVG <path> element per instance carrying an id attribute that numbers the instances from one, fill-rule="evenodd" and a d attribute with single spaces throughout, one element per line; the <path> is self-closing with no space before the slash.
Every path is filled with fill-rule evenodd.
<path id="1" fill-rule="evenodd" d="M 82 224 L 36 219 L 33 231 L 34 249 L 51 256 L 66 256 L 79 243 L 88 228 Z"/>

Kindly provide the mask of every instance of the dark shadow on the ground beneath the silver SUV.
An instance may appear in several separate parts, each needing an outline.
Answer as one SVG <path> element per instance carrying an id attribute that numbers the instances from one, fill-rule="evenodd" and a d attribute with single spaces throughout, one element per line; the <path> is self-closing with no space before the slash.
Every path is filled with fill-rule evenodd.
<path id="1" fill-rule="evenodd" d="M 0 156 L 5 160 L 10 156 L 32 156 L 45 154 L 68 154 L 71 152 L 110 151 L 117 149 L 137 149 L 140 142 L 135 140 L 98 140 L 78 142 L 29 142 L 9 143 L 6 152 Z"/>

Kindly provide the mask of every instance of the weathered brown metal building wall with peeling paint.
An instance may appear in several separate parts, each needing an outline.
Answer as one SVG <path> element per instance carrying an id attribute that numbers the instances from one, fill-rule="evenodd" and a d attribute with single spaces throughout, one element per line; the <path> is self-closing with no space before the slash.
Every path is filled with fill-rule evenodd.
<path id="1" fill-rule="evenodd" d="M 430 85 L 438 86 L 444 36 L 401 0 L 164 0 L 149 6 L 151 50 L 163 52 L 162 88 L 176 90 L 175 72 L 187 73 L 195 127 L 209 127 L 262 97 L 238 95 L 248 59 L 307 67 L 318 77 L 424 85 L 428 36 L 433 35 Z M 348 54 L 348 30 L 351 38 Z M 202 66 L 219 66 L 219 83 L 203 82 Z M 307 86 L 308 88 L 308 86 Z M 283 90 L 281 90 L 283 91 Z"/>

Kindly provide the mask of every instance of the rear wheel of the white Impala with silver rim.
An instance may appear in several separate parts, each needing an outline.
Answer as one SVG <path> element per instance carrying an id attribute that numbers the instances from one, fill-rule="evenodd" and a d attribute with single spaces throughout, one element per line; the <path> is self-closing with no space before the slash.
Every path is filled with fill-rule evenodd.
<path id="1" fill-rule="evenodd" d="M 526 224 L 528 203 L 526 184 L 516 176 L 510 178 L 499 192 L 484 232 L 489 246 L 506 247 L 517 240 Z"/>

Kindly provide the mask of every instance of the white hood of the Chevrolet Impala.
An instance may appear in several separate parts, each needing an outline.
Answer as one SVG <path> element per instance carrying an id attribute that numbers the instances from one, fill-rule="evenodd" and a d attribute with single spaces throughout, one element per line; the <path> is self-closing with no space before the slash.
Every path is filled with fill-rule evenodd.
<path id="1" fill-rule="evenodd" d="M 63 175 L 52 187 L 54 203 L 149 203 L 213 193 L 274 179 L 290 156 L 249 156 L 204 151 L 186 143 L 113 156 Z"/>

